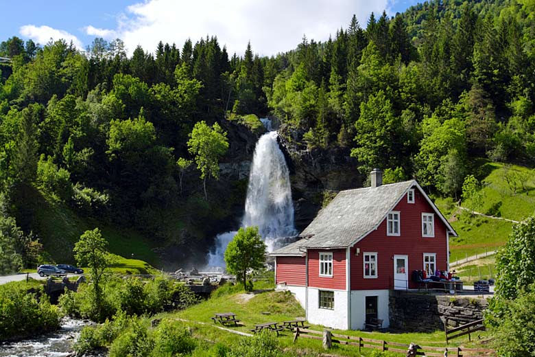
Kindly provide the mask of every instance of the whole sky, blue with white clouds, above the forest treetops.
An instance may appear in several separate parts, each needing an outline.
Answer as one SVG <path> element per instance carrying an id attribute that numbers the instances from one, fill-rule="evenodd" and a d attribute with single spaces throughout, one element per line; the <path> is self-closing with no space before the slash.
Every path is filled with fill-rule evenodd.
<path id="1" fill-rule="evenodd" d="M 2 0 L 0 41 L 12 36 L 37 43 L 65 38 L 84 49 L 95 37 L 121 38 L 154 51 L 158 41 L 197 41 L 217 35 L 230 54 L 248 41 L 261 55 L 287 51 L 303 34 L 325 41 L 351 16 L 366 26 L 371 12 L 403 12 L 416 0 Z"/>

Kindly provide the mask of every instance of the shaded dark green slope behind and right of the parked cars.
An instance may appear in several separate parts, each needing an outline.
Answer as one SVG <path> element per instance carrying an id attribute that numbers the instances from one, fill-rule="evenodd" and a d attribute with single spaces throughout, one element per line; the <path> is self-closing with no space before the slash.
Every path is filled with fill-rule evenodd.
<path id="1" fill-rule="evenodd" d="M 53 262 L 74 262 L 73 247 L 80 235 L 98 227 L 108 240 L 111 253 L 158 266 L 158 256 L 152 251 L 154 242 L 141 233 L 82 218 L 53 196 L 36 189 L 31 191 L 31 201 L 40 242 Z"/>

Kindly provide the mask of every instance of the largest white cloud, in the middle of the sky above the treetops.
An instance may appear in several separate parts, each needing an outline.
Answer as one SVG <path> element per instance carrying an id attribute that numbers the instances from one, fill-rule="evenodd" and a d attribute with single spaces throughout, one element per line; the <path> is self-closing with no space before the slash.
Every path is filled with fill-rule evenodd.
<path id="1" fill-rule="evenodd" d="M 119 16 L 117 30 L 86 28 L 97 36 L 117 34 L 130 54 L 137 45 L 152 52 L 158 41 L 180 48 L 187 38 L 195 43 L 210 35 L 230 55 L 243 54 L 250 41 L 255 53 L 270 56 L 294 49 L 304 34 L 326 41 L 347 28 L 353 14 L 366 27 L 371 12 L 379 17 L 391 5 L 392 0 L 145 0 Z"/>

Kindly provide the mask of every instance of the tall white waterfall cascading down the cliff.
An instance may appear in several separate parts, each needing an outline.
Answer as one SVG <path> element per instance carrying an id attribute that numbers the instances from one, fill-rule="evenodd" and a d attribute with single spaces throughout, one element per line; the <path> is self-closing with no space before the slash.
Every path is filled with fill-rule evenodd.
<path id="1" fill-rule="evenodd" d="M 262 122 L 268 130 L 271 128 L 271 122 Z M 289 172 L 284 154 L 278 148 L 277 136 L 276 131 L 262 135 L 254 148 L 245 214 L 241 220 L 241 227 L 259 227 L 269 252 L 277 248 L 283 238 L 296 235 Z M 217 235 L 215 252 L 209 254 L 209 267 L 225 266 L 224 252 L 236 233 Z"/>

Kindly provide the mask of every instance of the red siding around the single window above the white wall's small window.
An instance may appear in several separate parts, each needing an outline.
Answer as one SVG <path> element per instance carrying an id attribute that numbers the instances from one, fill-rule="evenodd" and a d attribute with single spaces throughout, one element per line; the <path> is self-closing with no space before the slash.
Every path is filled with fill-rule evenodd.
<path id="1" fill-rule="evenodd" d="M 320 251 L 309 250 L 309 286 L 313 288 L 346 289 L 346 250 L 334 249 L 327 252 L 333 253 L 333 276 L 320 277 Z"/>

